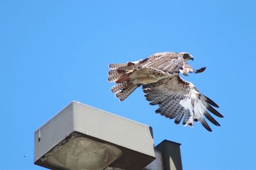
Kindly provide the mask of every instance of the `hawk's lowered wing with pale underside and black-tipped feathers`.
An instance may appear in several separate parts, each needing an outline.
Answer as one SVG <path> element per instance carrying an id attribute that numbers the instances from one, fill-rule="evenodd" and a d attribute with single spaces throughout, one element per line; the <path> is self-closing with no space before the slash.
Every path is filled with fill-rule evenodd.
<path id="1" fill-rule="evenodd" d="M 175 124 L 179 124 L 183 118 L 184 125 L 193 126 L 193 122 L 200 121 L 208 131 L 211 127 L 205 121 L 206 117 L 212 124 L 220 124 L 209 114 L 223 117 L 212 106 L 219 106 L 211 99 L 200 94 L 196 87 L 178 75 L 164 78 L 156 83 L 143 85 L 143 92 L 151 105 L 159 104 L 156 113 L 161 113 L 168 118 L 175 118 Z"/>

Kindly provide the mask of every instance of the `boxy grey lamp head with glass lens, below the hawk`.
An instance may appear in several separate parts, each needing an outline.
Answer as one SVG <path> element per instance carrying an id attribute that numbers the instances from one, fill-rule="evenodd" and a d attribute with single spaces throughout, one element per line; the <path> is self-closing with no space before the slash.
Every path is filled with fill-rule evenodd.
<path id="1" fill-rule="evenodd" d="M 49 169 L 143 169 L 155 159 L 152 128 L 73 101 L 35 132 L 35 164 Z"/>

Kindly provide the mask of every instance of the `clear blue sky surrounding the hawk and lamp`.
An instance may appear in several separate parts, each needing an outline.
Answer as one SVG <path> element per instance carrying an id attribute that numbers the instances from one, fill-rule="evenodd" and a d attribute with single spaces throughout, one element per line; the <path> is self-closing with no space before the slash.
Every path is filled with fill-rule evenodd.
<path id="1" fill-rule="evenodd" d="M 0 169 L 33 164 L 34 132 L 73 100 L 181 143 L 184 170 L 256 169 L 255 1 L 0 1 Z M 154 113 L 141 89 L 119 102 L 108 64 L 189 52 L 190 74 L 220 105 L 207 132 Z"/>

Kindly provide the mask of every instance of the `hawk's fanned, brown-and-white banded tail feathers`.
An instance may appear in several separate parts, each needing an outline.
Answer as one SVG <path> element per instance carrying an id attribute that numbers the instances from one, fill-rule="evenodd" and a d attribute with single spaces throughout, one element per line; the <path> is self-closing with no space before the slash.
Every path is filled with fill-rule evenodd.
<path id="1" fill-rule="evenodd" d="M 125 64 L 109 64 L 108 81 L 116 84 L 111 88 L 111 91 L 116 94 L 120 101 L 124 101 L 137 87 L 134 83 L 129 82 L 129 73 L 133 71 L 134 63 L 128 62 Z"/>

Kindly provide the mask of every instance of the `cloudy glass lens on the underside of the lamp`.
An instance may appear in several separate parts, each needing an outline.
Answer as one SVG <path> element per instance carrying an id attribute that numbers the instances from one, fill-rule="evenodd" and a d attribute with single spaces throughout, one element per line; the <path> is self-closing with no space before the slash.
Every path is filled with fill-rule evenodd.
<path id="1" fill-rule="evenodd" d="M 65 143 L 54 147 L 42 160 L 60 169 L 104 169 L 122 155 L 122 150 L 106 143 L 84 138 L 76 132 Z"/>

